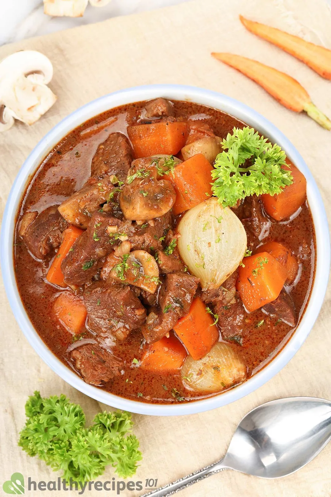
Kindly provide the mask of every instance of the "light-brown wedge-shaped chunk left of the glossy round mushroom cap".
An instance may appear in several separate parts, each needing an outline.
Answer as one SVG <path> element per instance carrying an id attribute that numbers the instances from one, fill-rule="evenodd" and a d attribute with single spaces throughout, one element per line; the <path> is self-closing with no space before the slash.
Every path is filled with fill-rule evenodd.
<path id="1" fill-rule="evenodd" d="M 109 176 L 101 180 L 91 177 L 80 190 L 62 202 L 59 211 L 69 224 L 87 228 L 93 212 L 100 209 L 113 190 Z"/>

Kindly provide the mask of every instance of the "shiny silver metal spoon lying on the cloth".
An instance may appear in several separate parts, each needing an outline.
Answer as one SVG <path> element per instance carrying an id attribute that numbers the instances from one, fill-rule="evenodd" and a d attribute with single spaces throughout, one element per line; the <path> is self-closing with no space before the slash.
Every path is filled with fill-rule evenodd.
<path id="1" fill-rule="evenodd" d="M 314 459 L 330 438 L 331 402 L 313 397 L 266 402 L 243 417 L 223 459 L 142 497 L 170 496 L 224 469 L 261 478 L 290 475 Z"/>

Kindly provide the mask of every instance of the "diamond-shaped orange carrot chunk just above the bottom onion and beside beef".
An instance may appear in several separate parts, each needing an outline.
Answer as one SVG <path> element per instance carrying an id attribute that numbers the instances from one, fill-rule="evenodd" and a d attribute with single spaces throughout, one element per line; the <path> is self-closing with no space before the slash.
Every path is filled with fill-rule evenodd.
<path id="1" fill-rule="evenodd" d="M 174 327 L 195 361 L 204 357 L 218 340 L 219 332 L 206 306 L 197 297 L 192 302 L 189 314 L 181 318 Z"/>

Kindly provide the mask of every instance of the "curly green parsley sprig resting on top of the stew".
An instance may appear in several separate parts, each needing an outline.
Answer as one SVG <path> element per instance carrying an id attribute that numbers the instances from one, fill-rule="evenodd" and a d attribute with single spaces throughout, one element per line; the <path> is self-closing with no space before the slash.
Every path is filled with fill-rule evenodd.
<path id="1" fill-rule="evenodd" d="M 212 191 L 223 207 L 233 207 L 238 200 L 254 194 L 280 193 L 293 183 L 290 170 L 283 168 L 287 166 L 285 152 L 253 128 L 233 128 L 222 148 L 212 171 Z"/>

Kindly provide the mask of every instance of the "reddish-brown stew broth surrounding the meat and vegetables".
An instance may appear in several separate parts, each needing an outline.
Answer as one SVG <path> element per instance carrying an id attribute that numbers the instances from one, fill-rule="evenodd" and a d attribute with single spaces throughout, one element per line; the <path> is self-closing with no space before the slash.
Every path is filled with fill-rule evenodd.
<path id="1" fill-rule="evenodd" d="M 64 138 L 36 171 L 31 180 L 17 220 L 27 210 L 43 211 L 51 205 L 63 202 L 72 193 L 82 187 L 90 176 L 91 160 L 100 143 L 110 133 L 121 132 L 127 135 L 127 127 L 136 124 L 145 102 L 137 102 L 104 112 L 85 122 Z M 217 136 L 225 137 L 234 126 L 243 127 L 244 123 L 219 110 L 191 102 L 174 102 L 175 116 L 185 120 L 190 116 L 199 122 L 208 123 Z M 290 248 L 299 261 L 299 276 L 292 284 L 291 297 L 296 312 L 301 317 L 307 304 L 314 280 L 315 233 L 308 203 L 304 204 L 294 219 L 285 222 L 271 220 L 268 236 L 263 243 L 276 240 Z M 72 335 L 59 323 L 53 313 L 53 303 L 60 294 L 60 289 L 46 281 L 46 274 L 52 262 L 54 252 L 43 262 L 35 260 L 25 244 L 18 237 L 14 246 L 15 271 L 19 293 L 26 312 L 34 328 L 56 354 L 56 356 L 73 368 L 66 349 L 73 341 Z M 261 242 L 254 241 L 248 234 L 248 247 L 256 248 Z M 261 326 L 257 326 L 264 320 Z M 264 367 L 286 344 L 294 329 L 276 317 L 269 317 L 258 310 L 248 314 L 242 345 L 229 341 L 239 357 L 244 361 L 248 377 Z M 88 329 L 83 329 L 89 335 Z M 220 337 L 220 340 L 222 338 Z M 168 375 L 145 372 L 139 367 L 131 367 L 132 359 L 142 355 L 142 335 L 140 331 L 132 332 L 128 338 L 114 347 L 114 354 L 125 361 L 125 372 L 104 385 L 104 389 L 116 395 L 137 400 L 141 393 L 145 402 L 177 402 L 172 396 L 176 388 L 186 400 L 197 400 L 217 394 L 205 394 L 187 390 L 181 380 L 180 371 Z"/>

